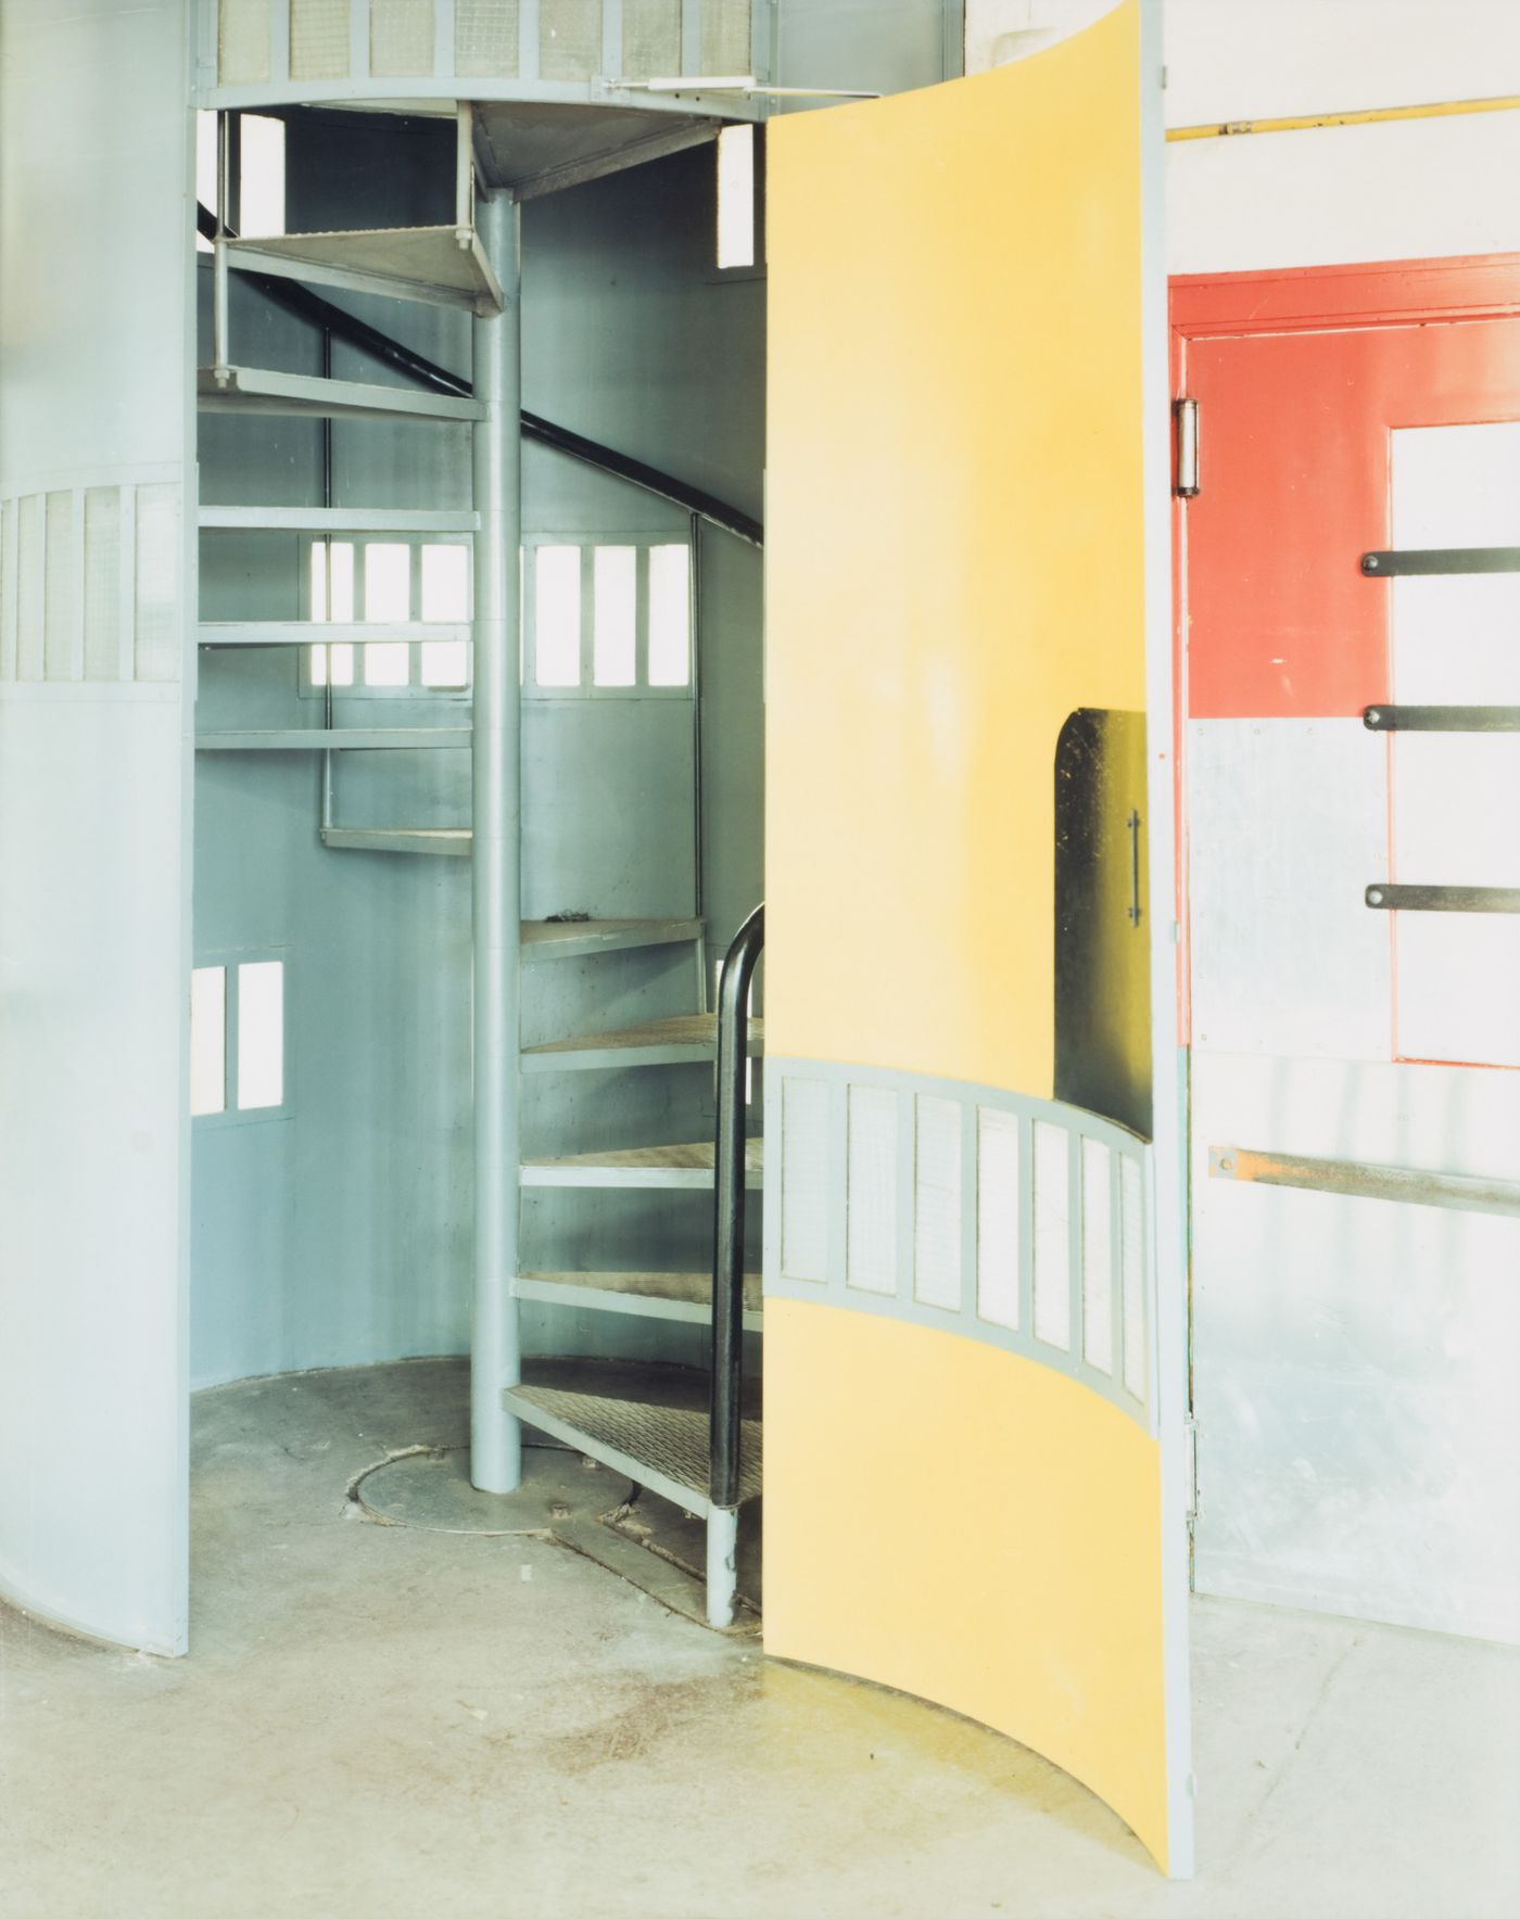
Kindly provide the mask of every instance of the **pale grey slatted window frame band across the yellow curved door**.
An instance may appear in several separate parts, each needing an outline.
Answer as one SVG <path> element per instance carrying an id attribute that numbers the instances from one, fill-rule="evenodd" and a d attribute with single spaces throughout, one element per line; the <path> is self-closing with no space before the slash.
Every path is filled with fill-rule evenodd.
<path id="1" fill-rule="evenodd" d="M 823 1261 L 823 1270 L 819 1278 L 795 1278 L 785 1270 L 785 1207 L 787 1207 L 787 1151 L 785 1151 L 785 1100 L 787 1084 L 796 1080 L 814 1080 L 827 1088 L 829 1107 L 827 1107 L 827 1136 L 821 1148 L 821 1178 L 823 1178 L 823 1205 L 825 1213 L 825 1244 L 827 1257 Z M 848 1245 L 848 1213 L 850 1213 L 850 1190 L 848 1190 L 848 1094 L 856 1086 L 877 1086 L 889 1088 L 898 1098 L 898 1151 L 896 1151 L 896 1180 L 898 1180 L 898 1272 L 896 1286 L 891 1293 L 867 1291 L 862 1286 L 850 1284 L 848 1265 L 846 1265 L 846 1245 Z M 914 1107 L 919 1098 L 950 1100 L 963 1107 L 963 1126 L 977 1125 L 979 1111 L 1011 1113 L 1019 1121 L 1019 1324 L 1002 1326 L 979 1313 L 977 1299 L 977 1267 L 975 1261 L 963 1261 L 960 1272 L 960 1295 L 954 1307 L 929 1305 L 915 1297 L 915 1276 L 914 1276 Z M 1067 1184 L 1061 1188 L 1061 1201 L 1067 1205 L 1067 1272 L 1071 1276 L 1071 1328 L 1069 1345 L 1059 1347 L 1048 1339 L 1034 1336 L 1034 1313 L 1033 1313 L 1033 1247 L 1034 1247 L 1034 1167 L 1031 1153 L 1033 1126 L 1040 1123 L 1057 1128 L 1067 1138 Z M 839 1065 L 835 1061 L 816 1061 L 816 1059 L 779 1059 L 772 1055 L 766 1063 L 766 1132 L 779 1140 L 775 1149 L 775 1173 L 766 1182 L 766 1297 L 772 1295 L 783 1299 L 806 1299 L 816 1303 L 827 1303 L 833 1307 L 848 1307 L 856 1313 L 871 1313 L 887 1318 L 902 1318 L 915 1326 L 929 1326 L 937 1332 L 960 1334 L 967 1339 L 977 1339 L 983 1345 L 994 1345 L 1008 1353 L 1017 1353 L 1021 1359 L 1038 1361 L 1050 1366 L 1054 1372 L 1061 1372 L 1071 1380 L 1081 1382 L 1090 1387 L 1100 1397 L 1111 1401 L 1128 1418 L 1132 1418 L 1146 1432 L 1155 1433 L 1155 1376 L 1157 1376 L 1157 1357 L 1155 1357 L 1155 1267 L 1152 1251 L 1152 1226 L 1150 1213 L 1153 1207 L 1152 1171 L 1150 1157 L 1152 1146 L 1138 1138 L 1138 1134 L 1128 1132 L 1125 1126 L 1115 1126 L 1107 1119 L 1100 1119 L 1096 1113 L 1088 1113 L 1082 1107 L 1065 1105 L 1057 1100 L 1031 1100 L 1023 1094 L 1011 1094 L 998 1086 L 973 1086 L 962 1080 L 935 1078 L 919 1073 L 892 1073 L 881 1067 L 854 1067 Z M 1134 1393 L 1125 1384 L 1125 1364 L 1123 1351 L 1115 1343 L 1113 1351 L 1113 1370 L 1105 1372 L 1102 1366 L 1092 1364 L 1084 1353 L 1082 1341 L 1082 1303 L 1081 1303 L 1081 1263 L 1082 1263 L 1082 1167 L 1081 1167 L 1081 1142 L 1092 1140 L 1109 1149 L 1113 1159 L 1128 1161 L 1136 1167 L 1138 1196 L 1142 1205 L 1142 1219 L 1136 1220 L 1136 1236 L 1142 1253 L 1140 1268 L 1140 1293 L 1146 1301 L 1144 1311 L 1144 1393 Z M 808 1151 L 812 1151 L 812 1142 L 808 1142 Z M 965 1167 L 967 1155 L 963 1153 L 962 1165 Z M 979 1219 L 979 1178 L 969 1186 L 962 1182 L 960 1205 L 962 1222 L 965 1222 L 965 1213 L 971 1215 L 971 1228 Z M 1109 1220 L 1111 1247 L 1119 1247 L 1123 1240 L 1123 1220 Z M 1119 1270 L 1119 1259 L 1111 1261 L 1109 1272 L 1109 1303 L 1111 1320 L 1117 1328 L 1123 1326 L 1123 1274 Z"/>

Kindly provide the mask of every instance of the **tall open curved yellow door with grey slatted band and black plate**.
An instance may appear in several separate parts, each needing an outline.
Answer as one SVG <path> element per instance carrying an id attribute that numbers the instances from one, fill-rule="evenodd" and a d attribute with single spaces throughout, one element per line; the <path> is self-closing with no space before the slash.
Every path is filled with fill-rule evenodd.
<path id="1" fill-rule="evenodd" d="M 766 1648 L 1186 1873 L 1155 25 L 770 130 Z"/>

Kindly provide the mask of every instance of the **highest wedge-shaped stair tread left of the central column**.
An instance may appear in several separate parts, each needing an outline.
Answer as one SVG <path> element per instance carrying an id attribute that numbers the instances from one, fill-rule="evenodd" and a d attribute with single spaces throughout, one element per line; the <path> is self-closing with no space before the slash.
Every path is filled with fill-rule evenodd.
<path id="1" fill-rule="evenodd" d="M 463 307 L 480 319 L 501 313 L 501 286 L 470 228 L 370 226 L 225 244 L 226 265 L 242 272 Z"/>

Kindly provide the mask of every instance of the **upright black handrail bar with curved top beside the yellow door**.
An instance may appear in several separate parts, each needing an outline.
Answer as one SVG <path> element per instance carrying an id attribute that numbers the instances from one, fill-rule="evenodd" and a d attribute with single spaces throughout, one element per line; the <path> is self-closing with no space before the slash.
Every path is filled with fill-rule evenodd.
<path id="1" fill-rule="evenodd" d="M 735 935 L 718 981 L 718 1144 L 712 1232 L 712 1504 L 739 1504 L 739 1399 L 745 1338 L 745 1061 L 748 996 L 766 908 Z"/>

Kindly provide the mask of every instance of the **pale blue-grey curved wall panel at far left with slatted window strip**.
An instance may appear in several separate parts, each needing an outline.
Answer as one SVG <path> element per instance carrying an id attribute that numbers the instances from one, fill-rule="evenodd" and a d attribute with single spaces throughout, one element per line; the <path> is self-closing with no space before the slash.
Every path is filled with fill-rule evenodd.
<path id="1" fill-rule="evenodd" d="M 184 0 L 4 0 L 0 1597 L 154 1652 L 188 1583 L 184 63 Z"/>

